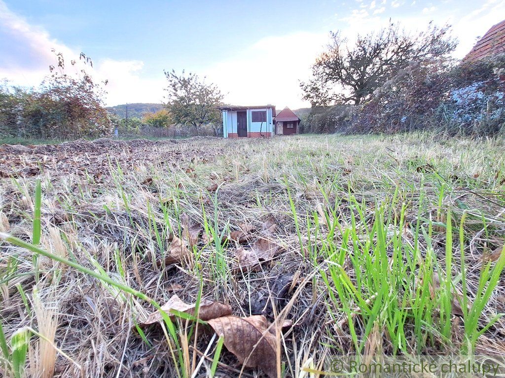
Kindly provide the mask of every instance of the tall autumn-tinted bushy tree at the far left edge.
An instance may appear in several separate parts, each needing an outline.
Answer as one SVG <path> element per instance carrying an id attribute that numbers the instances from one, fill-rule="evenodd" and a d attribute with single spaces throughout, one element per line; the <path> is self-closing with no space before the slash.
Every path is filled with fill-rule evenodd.
<path id="1" fill-rule="evenodd" d="M 53 52 L 55 52 L 53 50 Z M 36 89 L 0 89 L 0 132 L 4 135 L 36 138 L 100 137 L 111 132 L 111 121 L 103 106 L 104 83 L 95 83 L 85 71 L 92 67 L 89 57 L 80 54 L 79 63 L 66 61 L 56 53 L 57 64 Z M 81 67 L 79 67 L 81 66 Z"/>

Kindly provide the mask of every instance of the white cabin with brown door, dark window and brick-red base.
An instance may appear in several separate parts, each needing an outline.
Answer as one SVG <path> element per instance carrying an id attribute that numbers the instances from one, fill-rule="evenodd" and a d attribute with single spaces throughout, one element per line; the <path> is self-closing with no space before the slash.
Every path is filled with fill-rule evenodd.
<path id="1" fill-rule="evenodd" d="M 224 138 L 271 138 L 274 133 L 275 106 L 223 105 Z"/>

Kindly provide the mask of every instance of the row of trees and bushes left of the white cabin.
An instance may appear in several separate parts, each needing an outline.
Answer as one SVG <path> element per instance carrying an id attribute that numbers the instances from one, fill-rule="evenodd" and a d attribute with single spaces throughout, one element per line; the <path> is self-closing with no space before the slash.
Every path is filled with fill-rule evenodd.
<path id="1" fill-rule="evenodd" d="M 37 88 L 0 83 L 0 138 L 77 139 L 139 134 L 143 127 L 178 130 L 191 136 L 222 133 L 217 109 L 224 95 L 213 83 L 196 74 L 166 71 L 167 101 L 164 108 L 139 117 L 119 117 L 105 109 L 107 81 L 96 82 L 87 73 L 92 60 L 81 53 L 66 61 L 55 53 L 55 65 Z M 170 135 L 170 134 L 166 134 Z"/>

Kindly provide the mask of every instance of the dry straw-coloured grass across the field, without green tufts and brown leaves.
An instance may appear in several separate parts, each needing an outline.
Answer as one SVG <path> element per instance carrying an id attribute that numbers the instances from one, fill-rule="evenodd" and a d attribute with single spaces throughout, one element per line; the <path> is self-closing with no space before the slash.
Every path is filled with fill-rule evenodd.
<path id="1" fill-rule="evenodd" d="M 450 317 L 449 340 L 433 333 L 424 342 L 416 336 L 416 332 L 424 335 L 423 330 L 416 328 L 415 316 L 409 314 L 402 326 L 406 343 L 400 351 L 395 350 L 387 320 L 377 317 L 367 330 L 368 314 L 354 297 L 345 303 L 352 313 L 348 317 L 333 283 L 325 281 L 336 264 L 334 251 L 342 246 L 345 229 L 356 235 L 353 250 L 366 240 L 374 244 L 377 236 L 371 230 L 380 215 L 387 228 L 389 258 L 397 240 L 405 250 L 419 251 L 424 263 L 431 250 L 440 265 L 437 272 L 443 272 L 444 222 L 450 209 L 456 230 L 452 284 L 461 291 L 457 230 L 466 213 L 462 227 L 470 303 L 486 259 L 504 243 L 501 139 L 418 134 L 82 144 L 4 148 L 0 171 L 13 177 L 0 179 L 0 231 L 31 239 L 38 177 L 42 246 L 87 268 L 103 270 L 158 303 L 166 302 L 177 285 L 181 287 L 177 294 L 193 303 L 201 286 L 203 297 L 230 303 L 234 314 L 248 316 L 261 298 L 271 294 L 277 277 L 294 275 L 295 284 L 277 308 L 270 305 L 264 310 L 270 321 L 290 319 L 294 324 L 278 335 L 286 377 L 310 376 L 302 367 L 321 369 L 327 355 L 355 353 L 359 345 L 375 353 L 446 353 L 464 343 L 464 324 L 457 314 Z M 214 183 L 218 191 L 208 192 Z M 169 246 L 168 234 L 181 236 L 183 213 L 205 225 L 209 241 L 198 240 L 191 263 L 158 267 Z M 242 275 L 234 269 L 238 245 L 214 243 L 213 232 L 225 234 L 246 223 L 260 235 L 270 216 L 278 221 L 273 238 L 284 250 L 261 271 Z M 153 310 L 147 303 L 74 269 L 33 259 L 25 249 L 0 242 L 0 250 L 4 297 L 0 320 L 6 335 L 26 326 L 51 340 L 54 333 L 55 345 L 75 361 L 55 356 L 50 343 L 39 341 L 39 363 L 46 366 L 41 376 L 51 376 L 54 358 L 55 376 L 184 376 L 184 371 L 187 376 L 210 375 L 212 358 L 205 356 L 213 356 L 214 346 L 209 349 L 213 335 L 202 333 L 204 326 L 199 326 L 201 335 L 195 341 L 182 321 L 178 330 L 182 363 L 177 366 L 171 357 L 173 353 L 177 360 L 177 346 L 160 328 L 146 329 L 145 339 L 135 330 L 134 323 Z M 342 268 L 356 283 L 360 272 L 350 259 L 354 254 L 345 257 Z M 427 268 L 416 264 L 412 282 L 418 282 L 423 269 Z M 53 292 L 58 307 L 42 304 L 34 294 L 35 285 L 41 292 Z M 366 305 L 375 303 L 374 293 L 363 289 L 362 294 Z M 504 294 L 505 284 L 499 282 L 482 311 L 480 326 L 505 312 Z M 433 308 L 433 327 L 443 317 L 438 311 Z M 358 342 L 351 335 L 349 319 Z M 505 353 L 504 335 L 505 322 L 499 319 L 479 339 L 478 350 Z M 241 369 L 225 352 L 217 376 L 237 376 Z M 254 374 L 262 376 L 260 371 L 243 369 L 243 376 Z"/>

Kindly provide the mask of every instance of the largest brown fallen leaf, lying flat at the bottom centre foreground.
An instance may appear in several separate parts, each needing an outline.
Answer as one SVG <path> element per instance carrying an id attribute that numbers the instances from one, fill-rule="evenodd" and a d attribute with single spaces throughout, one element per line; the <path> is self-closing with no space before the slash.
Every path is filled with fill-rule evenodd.
<path id="1" fill-rule="evenodd" d="M 209 325 L 218 336 L 223 336 L 224 345 L 240 363 L 247 367 L 259 367 L 270 378 L 277 377 L 277 348 L 280 346 L 275 326 L 271 326 L 264 316 L 221 317 L 210 320 Z M 285 326 L 289 325 L 285 323 Z"/>

